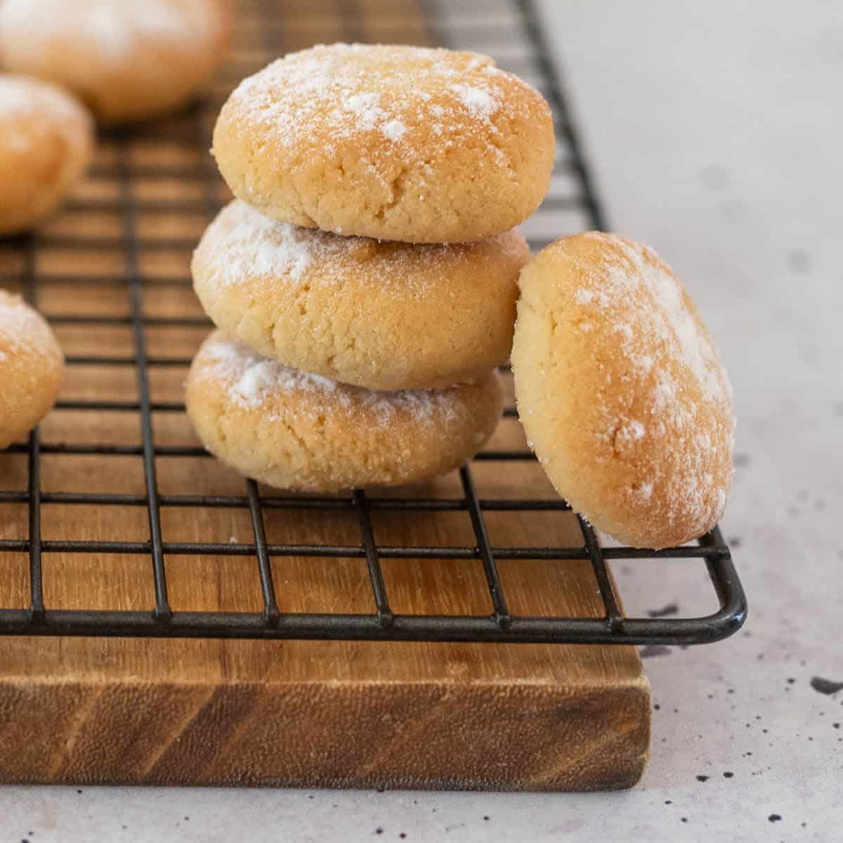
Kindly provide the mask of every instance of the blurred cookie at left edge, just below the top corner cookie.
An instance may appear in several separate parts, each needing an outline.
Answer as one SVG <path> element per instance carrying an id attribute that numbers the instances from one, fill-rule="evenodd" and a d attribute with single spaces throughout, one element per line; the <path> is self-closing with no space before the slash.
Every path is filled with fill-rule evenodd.
<path id="1" fill-rule="evenodd" d="M 94 124 L 81 103 L 54 85 L 0 73 L 0 235 L 46 217 L 93 150 Z"/>

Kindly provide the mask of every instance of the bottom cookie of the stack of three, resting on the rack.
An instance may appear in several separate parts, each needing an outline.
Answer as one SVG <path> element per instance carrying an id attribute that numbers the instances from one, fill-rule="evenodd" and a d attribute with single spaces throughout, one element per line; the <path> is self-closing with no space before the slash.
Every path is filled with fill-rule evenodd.
<path id="1" fill-rule="evenodd" d="M 374 392 L 287 368 L 214 332 L 187 379 L 187 412 L 212 454 L 297 491 L 395 486 L 470 459 L 502 411 L 497 373 L 432 391 Z"/>

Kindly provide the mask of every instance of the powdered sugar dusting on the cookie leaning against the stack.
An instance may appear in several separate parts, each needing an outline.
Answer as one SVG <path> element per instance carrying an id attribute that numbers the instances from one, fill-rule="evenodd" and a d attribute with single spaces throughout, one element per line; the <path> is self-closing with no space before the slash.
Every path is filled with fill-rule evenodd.
<path id="1" fill-rule="evenodd" d="M 629 490 L 633 499 L 648 501 L 657 489 L 669 503 L 668 519 L 701 532 L 722 513 L 730 479 L 734 421 L 717 349 L 686 303 L 680 282 L 652 250 L 612 234 L 582 236 L 604 244 L 603 262 L 594 266 L 573 259 L 583 283 L 572 298 L 583 315 L 606 322 L 615 353 L 627 363 L 620 365 L 611 400 L 599 399 L 605 437 L 615 453 L 649 466 L 651 475 Z M 619 406 L 635 406 L 636 415 L 649 417 L 620 411 L 619 418 Z M 645 453 L 662 459 L 653 463 Z"/>

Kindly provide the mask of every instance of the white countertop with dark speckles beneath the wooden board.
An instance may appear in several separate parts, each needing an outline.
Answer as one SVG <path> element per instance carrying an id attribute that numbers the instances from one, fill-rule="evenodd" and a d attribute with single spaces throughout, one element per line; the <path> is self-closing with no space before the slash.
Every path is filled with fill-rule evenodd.
<path id="1" fill-rule="evenodd" d="M 815 678 L 843 682 L 843 15 L 543 6 L 611 223 L 685 278 L 732 374 L 744 631 L 647 658 L 652 760 L 630 792 L 7 787 L 0 843 L 840 840 L 843 690 Z M 662 608 L 618 576 L 628 608 Z M 700 608 L 697 583 L 671 578 L 670 602 Z"/>

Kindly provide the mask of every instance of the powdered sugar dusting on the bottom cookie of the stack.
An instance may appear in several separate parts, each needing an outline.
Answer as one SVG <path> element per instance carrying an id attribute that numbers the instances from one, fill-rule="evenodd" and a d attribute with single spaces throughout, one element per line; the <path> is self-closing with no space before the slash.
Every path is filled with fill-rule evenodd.
<path id="1" fill-rule="evenodd" d="M 262 357 L 218 333 L 202 346 L 198 359 L 201 376 L 222 382 L 232 402 L 246 410 L 271 405 L 279 395 L 293 399 L 298 393 L 318 399 L 320 414 L 351 410 L 362 423 L 379 426 L 395 421 L 398 411 L 409 412 L 421 423 L 452 420 L 459 412 L 459 395 L 454 389 L 378 392 L 338 384 Z M 285 411 L 295 414 L 298 409 L 291 404 Z"/>

